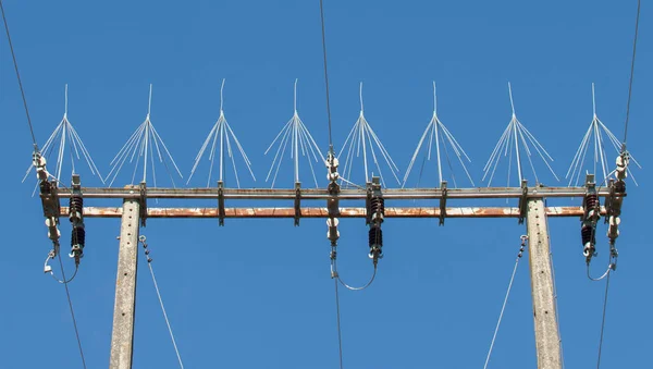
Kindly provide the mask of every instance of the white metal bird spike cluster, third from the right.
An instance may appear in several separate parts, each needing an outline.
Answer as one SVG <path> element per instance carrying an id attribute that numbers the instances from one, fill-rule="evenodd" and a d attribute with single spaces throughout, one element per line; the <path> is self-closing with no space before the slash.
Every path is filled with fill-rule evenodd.
<path id="1" fill-rule="evenodd" d="M 424 146 L 424 144 L 426 144 L 426 146 Z M 433 118 L 431 118 L 431 121 L 427 125 L 424 133 L 421 135 L 421 138 L 419 139 L 419 143 L 417 144 L 415 153 L 412 155 L 412 158 L 410 159 L 410 163 L 408 164 L 408 169 L 406 170 L 406 174 L 404 175 L 404 183 L 402 184 L 402 187 L 406 186 L 406 182 L 408 181 L 410 172 L 412 171 L 415 161 L 423 147 L 426 150 L 426 156 L 423 158 L 423 161 L 422 161 L 422 164 L 420 168 L 420 172 L 419 172 L 419 179 L 417 181 L 417 187 L 419 187 L 419 182 L 421 180 L 424 163 L 426 163 L 426 161 L 431 160 L 433 144 L 435 145 L 435 158 L 438 160 L 438 179 L 439 179 L 440 183 L 442 183 L 444 180 L 443 174 L 442 174 L 442 160 L 441 160 L 442 159 L 441 147 L 442 147 L 442 148 L 444 148 L 444 155 L 446 158 L 451 179 L 454 183 L 454 187 L 458 186 L 456 183 L 454 168 L 452 165 L 452 160 L 449 158 L 449 152 L 447 149 L 447 144 L 448 144 L 448 146 L 452 148 L 452 151 L 454 152 L 454 155 L 460 162 L 460 165 L 463 165 L 463 170 L 465 171 L 467 179 L 469 180 L 469 182 L 471 183 L 471 186 L 473 187 L 475 186 L 473 180 L 471 179 L 471 175 L 469 174 L 469 171 L 467 170 L 467 165 L 465 164 L 465 160 L 467 160 L 468 162 L 471 162 L 471 159 L 469 159 L 469 156 L 467 156 L 467 152 L 465 152 L 465 150 L 463 149 L 460 144 L 458 144 L 458 142 L 456 140 L 454 135 L 452 135 L 449 130 L 438 118 L 438 94 L 435 90 L 435 82 L 433 82 Z"/>

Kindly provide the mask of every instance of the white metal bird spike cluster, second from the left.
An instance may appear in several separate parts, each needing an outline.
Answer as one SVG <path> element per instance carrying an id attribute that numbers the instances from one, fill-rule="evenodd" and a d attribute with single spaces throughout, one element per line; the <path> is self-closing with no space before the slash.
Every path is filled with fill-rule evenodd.
<path id="1" fill-rule="evenodd" d="M 170 176 L 172 181 L 172 186 L 176 187 L 174 184 L 173 173 L 168 163 L 168 160 L 174 168 L 174 171 L 178 174 L 180 177 L 183 177 L 182 172 L 177 168 L 172 155 L 168 150 L 165 143 L 155 128 L 155 125 L 150 121 L 150 112 L 152 106 L 152 85 L 150 84 L 149 89 L 149 99 L 147 104 L 147 115 L 145 116 L 145 121 L 140 123 L 140 125 L 134 131 L 130 139 L 123 145 L 123 147 L 118 151 L 113 160 L 111 160 L 111 171 L 107 175 L 107 180 L 109 181 L 109 186 L 113 184 L 124 163 L 127 161 L 130 163 L 136 162 L 134 164 L 134 172 L 132 173 L 132 182 L 136 180 L 136 173 L 138 172 L 138 168 L 143 167 L 143 177 L 141 182 L 147 182 L 148 177 L 148 165 L 151 165 L 151 179 L 155 187 L 157 187 L 157 171 L 155 165 L 155 160 L 158 158 L 160 163 L 163 163 L 165 168 L 165 172 Z M 168 159 L 168 160 L 167 160 Z"/>

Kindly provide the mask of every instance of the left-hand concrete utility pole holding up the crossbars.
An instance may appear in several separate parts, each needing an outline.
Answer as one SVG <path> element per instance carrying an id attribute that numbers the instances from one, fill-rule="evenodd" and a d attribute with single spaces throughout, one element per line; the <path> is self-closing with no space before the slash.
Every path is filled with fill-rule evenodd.
<path id="1" fill-rule="evenodd" d="M 139 211 L 140 204 L 137 199 L 124 200 L 120 226 L 110 369 L 132 368 L 134 315 L 136 312 L 138 229 L 140 226 Z"/>

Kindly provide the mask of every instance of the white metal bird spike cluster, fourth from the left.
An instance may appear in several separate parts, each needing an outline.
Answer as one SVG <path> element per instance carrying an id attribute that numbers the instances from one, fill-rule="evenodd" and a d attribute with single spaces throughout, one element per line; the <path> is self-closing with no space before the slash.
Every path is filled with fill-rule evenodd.
<path id="1" fill-rule="evenodd" d="M 271 177 L 272 187 L 274 187 L 276 175 L 279 174 L 279 169 L 281 168 L 281 162 L 288 143 L 291 143 L 291 159 L 293 160 L 295 183 L 300 183 L 299 155 L 301 155 L 301 157 L 305 157 L 306 161 L 308 162 L 316 188 L 318 188 L 320 185 L 318 184 L 316 171 L 313 170 L 313 161 L 316 163 L 324 162 L 324 157 L 322 157 L 320 153 L 321 151 L 318 147 L 318 144 L 297 113 L 297 79 L 295 79 L 293 109 L 293 118 L 291 118 L 283 128 L 281 128 L 281 132 L 276 135 L 276 137 L 274 137 L 272 144 L 270 144 L 266 150 L 266 155 L 268 155 L 268 152 L 270 152 L 276 146 L 276 150 L 274 150 L 274 159 L 272 159 L 272 164 L 270 165 L 270 171 L 268 171 L 266 182 L 270 181 Z"/>

